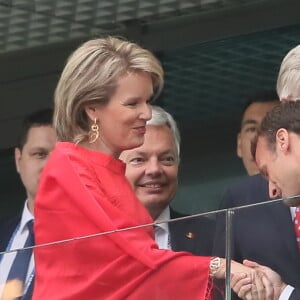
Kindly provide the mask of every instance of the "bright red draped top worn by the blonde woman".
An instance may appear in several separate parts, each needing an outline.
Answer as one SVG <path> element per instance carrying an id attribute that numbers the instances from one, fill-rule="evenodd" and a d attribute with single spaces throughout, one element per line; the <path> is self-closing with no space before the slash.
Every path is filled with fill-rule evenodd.
<path id="1" fill-rule="evenodd" d="M 109 155 L 58 143 L 35 204 L 34 300 L 210 299 L 209 257 L 159 250 L 125 165 Z"/>

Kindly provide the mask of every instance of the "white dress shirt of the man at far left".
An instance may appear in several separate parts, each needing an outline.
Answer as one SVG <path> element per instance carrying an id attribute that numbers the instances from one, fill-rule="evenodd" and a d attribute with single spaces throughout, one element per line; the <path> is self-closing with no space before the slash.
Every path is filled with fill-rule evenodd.
<path id="1" fill-rule="evenodd" d="M 19 223 L 19 225 L 16 227 L 15 231 L 13 232 L 12 237 L 8 243 L 6 251 L 13 250 L 13 249 L 20 249 L 20 248 L 24 247 L 26 239 L 29 234 L 29 230 L 28 230 L 28 227 L 26 226 L 26 224 L 30 220 L 33 220 L 33 215 L 29 211 L 29 209 L 27 207 L 27 201 L 26 201 L 24 204 L 24 208 L 23 208 L 21 222 Z M 14 261 L 16 255 L 17 255 L 17 252 L 11 252 L 11 253 L 7 253 L 7 254 L 4 254 L 1 256 L 1 261 L 0 261 L 0 299 L 1 299 L 1 296 L 3 293 L 4 284 L 6 283 L 8 273 L 10 271 L 10 268 L 13 264 L 13 261 Z M 26 286 L 27 282 L 32 279 L 33 270 L 34 270 L 34 258 L 33 258 L 33 254 L 32 254 L 30 263 L 29 263 L 28 272 L 27 272 L 25 286 Z"/>

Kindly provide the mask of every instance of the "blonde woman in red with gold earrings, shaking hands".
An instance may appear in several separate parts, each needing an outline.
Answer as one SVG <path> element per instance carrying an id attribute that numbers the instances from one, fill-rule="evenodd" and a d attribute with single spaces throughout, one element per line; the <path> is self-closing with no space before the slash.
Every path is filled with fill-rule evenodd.
<path id="1" fill-rule="evenodd" d="M 59 142 L 36 199 L 37 244 L 152 222 L 118 157 L 143 144 L 162 86 L 159 61 L 128 41 L 90 40 L 69 58 L 55 91 Z M 211 299 L 224 260 L 159 250 L 153 237 L 150 226 L 37 248 L 33 299 Z"/>

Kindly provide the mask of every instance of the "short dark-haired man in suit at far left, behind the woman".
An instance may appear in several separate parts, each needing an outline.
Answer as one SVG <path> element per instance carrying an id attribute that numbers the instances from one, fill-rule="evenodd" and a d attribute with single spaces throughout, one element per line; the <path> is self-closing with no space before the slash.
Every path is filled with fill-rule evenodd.
<path id="1" fill-rule="evenodd" d="M 32 234 L 34 219 L 34 198 L 40 174 L 54 148 L 56 134 L 52 127 L 52 110 L 37 111 L 24 119 L 15 148 L 15 163 L 25 187 L 27 199 L 20 214 L 0 221 L 0 251 L 10 251 L 27 246 Z M 29 226 L 31 224 L 31 226 Z M 27 245 L 27 246 L 26 246 Z M 0 260 L 0 299 L 31 299 L 34 283 L 34 259 L 30 252 L 27 262 L 22 260 L 22 252 L 4 254 Z M 23 270 L 24 278 L 15 272 Z M 19 272 L 19 271 L 18 271 Z M 19 274 L 19 273 L 18 273 Z M 19 275 L 18 275 L 19 276 Z"/>

